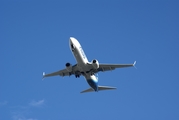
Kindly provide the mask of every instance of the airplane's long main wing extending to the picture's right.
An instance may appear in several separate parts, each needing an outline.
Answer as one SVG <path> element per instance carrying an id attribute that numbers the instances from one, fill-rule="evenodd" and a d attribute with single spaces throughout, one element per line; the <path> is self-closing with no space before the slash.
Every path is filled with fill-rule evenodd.
<path id="1" fill-rule="evenodd" d="M 99 68 L 94 70 L 95 73 L 99 71 L 110 71 L 116 68 L 135 67 L 136 61 L 133 64 L 99 64 Z"/>

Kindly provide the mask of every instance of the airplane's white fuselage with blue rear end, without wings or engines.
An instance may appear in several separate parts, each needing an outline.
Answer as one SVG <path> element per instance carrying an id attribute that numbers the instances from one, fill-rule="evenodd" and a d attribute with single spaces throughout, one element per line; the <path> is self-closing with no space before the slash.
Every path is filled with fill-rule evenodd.
<path id="1" fill-rule="evenodd" d="M 89 71 L 88 59 L 80 45 L 80 43 L 73 37 L 70 37 L 69 41 L 70 49 L 76 59 L 77 66 L 82 75 L 86 78 L 88 84 L 95 90 L 98 91 L 98 78 L 95 75 L 91 75 L 91 73 L 86 73 Z"/>

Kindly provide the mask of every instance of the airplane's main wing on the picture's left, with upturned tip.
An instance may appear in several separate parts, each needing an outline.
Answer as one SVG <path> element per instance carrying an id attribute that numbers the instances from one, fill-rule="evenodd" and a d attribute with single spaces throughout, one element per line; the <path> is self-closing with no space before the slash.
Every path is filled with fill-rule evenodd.
<path id="1" fill-rule="evenodd" d="M 77 67 L 77 65 L 74 65 L 74 66 L 72 66 L 72 71 L 71 72 L 69 72 L 67 69 L 59 70 L 59 71 L 49 73 L 49 74 L 45 74 L 43 72 L 43 78 L 51 77 L 51 76 L 57 76 L 57 75 L 60 75 L 62 77 L 63 76 L 70 76 L 72 74 L 75 74 L 76 72 L 78 72 L 78 67 Z"/>

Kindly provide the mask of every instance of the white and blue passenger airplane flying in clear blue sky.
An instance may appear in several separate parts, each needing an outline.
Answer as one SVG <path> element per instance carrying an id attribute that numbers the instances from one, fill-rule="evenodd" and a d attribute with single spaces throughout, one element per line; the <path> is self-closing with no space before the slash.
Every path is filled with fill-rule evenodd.
<path id="1" fill-rule="evenodd" d="M 136 64 L 136 61 L 133 64 L 101 64 L 98 62 L 97 59 L 94 59 L 89 62 L 85 55 L 85 52 L 82 49 L 82 46 L 74 37 L 70 37 L 69 47 L 76 59 L 77 64 L 71 65 L 71 63 L 67 62 L 65 64 L 65 69 L 49 74 L 45 74 L 45 72 L 43 72 L 43 78 L 57 75 L 60 75 L 62 77 L 75 75 L 76 78 L 79 78 L 82 75 L 85 77 L 90 88 L 82 91 L 81 93 L 116 89 L 116 87 L 99 86 L 97 73 L 104 71 L 112 71 L 116 68 L 135 67 Z"/>

